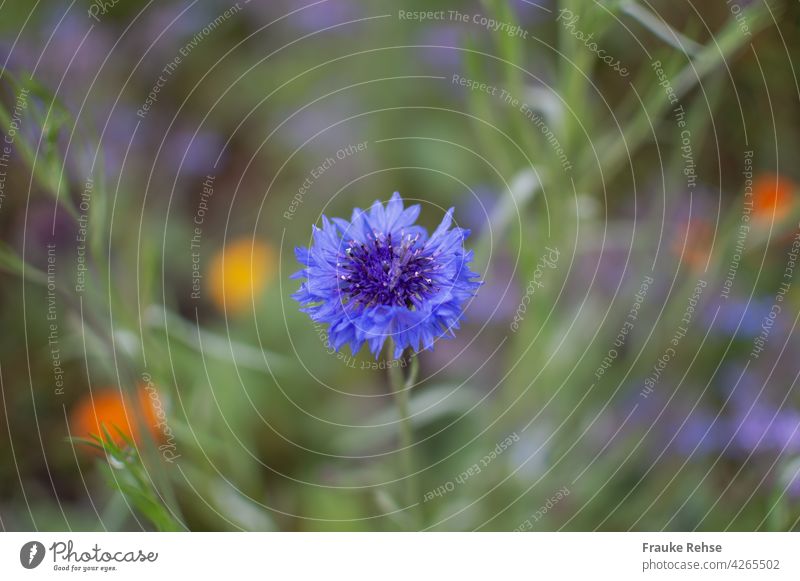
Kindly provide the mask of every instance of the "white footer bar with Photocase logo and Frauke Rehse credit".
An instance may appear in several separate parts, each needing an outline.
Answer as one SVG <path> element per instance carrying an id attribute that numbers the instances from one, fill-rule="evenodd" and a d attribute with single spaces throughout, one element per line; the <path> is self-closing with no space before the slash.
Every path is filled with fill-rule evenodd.
<path id="1" fill-rule="evenodd" d="M 3 533 L 0 579 L 800 579 L 794 533 Z"/>

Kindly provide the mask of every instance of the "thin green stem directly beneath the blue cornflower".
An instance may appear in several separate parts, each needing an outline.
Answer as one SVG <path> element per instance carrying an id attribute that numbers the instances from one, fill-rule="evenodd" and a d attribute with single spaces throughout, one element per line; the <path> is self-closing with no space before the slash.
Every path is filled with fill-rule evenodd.
<path id="1" fill-rule="evenodd" d="M 386 359 L 387 363 L 392 360 L 394 353 L 394 342 L 390 339 L 386 343 Z M 412 515 L 412 528 L 418 529 L 421 525 L 420 513 L 420 494 L 418 490 L 418 481 L 416 477 L 415 462 L 414 462 L 414 428 L 411 425 L 410 413 L 410 394 L 411 387 L 417 379 L 417 371 L 419 363 L 416 357 L 410 357 L 409 373 L 403 377 L 403 372 L 400 367 L 388 366 L 389 368 L 389 385 L 394 396 L 394 402 L 397 406 L 397 413 L 400 417 L 400 456 L 402 461 L 403 481 L 405 485 L 405 502 Z"/>

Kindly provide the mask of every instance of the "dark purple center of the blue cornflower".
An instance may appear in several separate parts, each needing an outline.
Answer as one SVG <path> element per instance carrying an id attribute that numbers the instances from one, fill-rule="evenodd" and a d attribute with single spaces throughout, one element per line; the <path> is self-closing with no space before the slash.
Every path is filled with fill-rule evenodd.
<path id="1" fill-rule="evenodd" d="M 365 243 L 351 240 L 336 264 L 343 300 L 366 307 L 420 307 L 424 298 L 439 291 L 440 265 L 418 240 L 419 235 L 401 233 L 398 244 L 391 233 L 379 232 Z"/>

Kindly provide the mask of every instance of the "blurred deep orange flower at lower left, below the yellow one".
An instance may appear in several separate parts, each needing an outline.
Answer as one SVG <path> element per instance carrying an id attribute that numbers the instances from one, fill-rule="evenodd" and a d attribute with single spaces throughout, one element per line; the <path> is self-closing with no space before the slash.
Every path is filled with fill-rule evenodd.
<path id="1" fill-rule="evenodd" d="M 158 438 L 158 418 L 153 398 L 142 385 L 138 388 L 138 397 L 144 415 L 142 420 L 153 438 Z M 102 427 L 105 427 L 118 446 L 125 445 L 119 432 L 139 444 L 139 420 L 136 413 L 137 410 L 130 400 L 130 396 L 128 394 L 123 396 L 116 388 L 105 388 L 91 395 L 87 394 L 72 410 L 70 419 L 72 436 L 88 439 L 92 439 L 92 436 L 102 438 L 104 437 Z"/>

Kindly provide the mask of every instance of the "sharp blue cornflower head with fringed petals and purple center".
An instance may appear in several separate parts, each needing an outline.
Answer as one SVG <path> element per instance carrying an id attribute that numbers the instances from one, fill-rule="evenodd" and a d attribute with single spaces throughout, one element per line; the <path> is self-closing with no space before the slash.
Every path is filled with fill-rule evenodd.
<path id="1" fill-rule="evenodd" d="M 458 328 L 481 284 L 469 269 L 473 253 L 464 250 L 469 230 L 451 228 L 451 208 L 428 236 L 415 224 L 419 212 L 395 192 L 385 207 L 376 200 L 369 211 L 356 208 L 349 222 L 323 216 L 311 248 L 295 249 L 305 268 L 292 278 L 305 281 L 293 298 L 330 325 L 337 351 L 349 343 L 355 354 L 367 342 L 377 358 L 391 338 L 398 358 L 407 347 L 433 349 Z"/>

